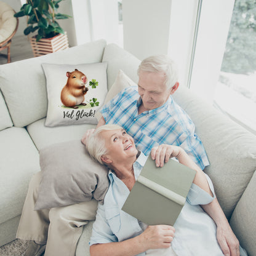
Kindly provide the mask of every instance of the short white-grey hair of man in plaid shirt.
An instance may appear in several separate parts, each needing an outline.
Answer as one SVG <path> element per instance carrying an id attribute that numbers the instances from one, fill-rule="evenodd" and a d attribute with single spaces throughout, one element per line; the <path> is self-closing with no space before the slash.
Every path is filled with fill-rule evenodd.
<path id="1" fill-rule="evenodd" d="M 177 66 L 167 55 L 153 55 L 145 58 L 138 66 L 138 76 L 140 76 L 140 72 L 163 73 L 166 77 L 164 82 L 168 89 L 172 88 L 178 81 Z"/>

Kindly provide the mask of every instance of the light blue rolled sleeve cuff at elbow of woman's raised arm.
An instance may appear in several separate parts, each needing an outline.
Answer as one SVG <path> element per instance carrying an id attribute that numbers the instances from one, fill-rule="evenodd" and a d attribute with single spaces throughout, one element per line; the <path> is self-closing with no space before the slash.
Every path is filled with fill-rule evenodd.
<path id="1" fill-rule="evenodd" d="M 186 197 L 186 201 L 188 201 L 191 205 L 198 205 L 198 204 L 209 204 L 214 200 L 215 192 L 214 192 L 214 185 L 212 184 L 212 180 L 210 180 L 210 177 L 206 175 L 207 182 L 210 187 L 210 191 L 212 191 L 213 197 L 210 196 L 206 191 L 202 190 L 198 185 L 195 185 L 192 183 L 190 191 L 188 191 L 188 196 Z"/>

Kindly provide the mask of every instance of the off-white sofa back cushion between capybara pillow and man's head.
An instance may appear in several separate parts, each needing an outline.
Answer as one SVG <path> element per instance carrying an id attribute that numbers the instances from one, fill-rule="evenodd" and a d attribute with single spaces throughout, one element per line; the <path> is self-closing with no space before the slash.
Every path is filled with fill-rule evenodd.
<path id="1" fill-rule="evenodd" d="M 105 47 L 102 61 L 108 62 L 108 89 L 114 83 L 119 70 L 124 71 L 134 82 L 138 81 L 137 70 L 140 60 L 116 44 L 108 44 Z"/>

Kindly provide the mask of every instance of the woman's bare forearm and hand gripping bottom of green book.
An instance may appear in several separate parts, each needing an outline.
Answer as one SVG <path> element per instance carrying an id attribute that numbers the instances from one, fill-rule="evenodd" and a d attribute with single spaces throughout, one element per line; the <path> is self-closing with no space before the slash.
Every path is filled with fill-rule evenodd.
<path id="1" fill-rule="evenodd" d="M 135 256 L 148 249 L 170 247 L 174 239 L 174 227 L 168 225 L 148 226 L 142 234 L 122 242 L 93 244 L 90 246 L 91 256 Z"/>

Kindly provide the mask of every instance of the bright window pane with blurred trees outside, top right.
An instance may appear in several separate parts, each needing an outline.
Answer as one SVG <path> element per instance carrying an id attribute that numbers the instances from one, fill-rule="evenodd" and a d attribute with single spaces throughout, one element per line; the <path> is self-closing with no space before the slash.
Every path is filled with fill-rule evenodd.
<path id="1" fill-rule="evenodd" d="M 215 105 L 256 134 L 256 1 L 236 0 Z"/>

